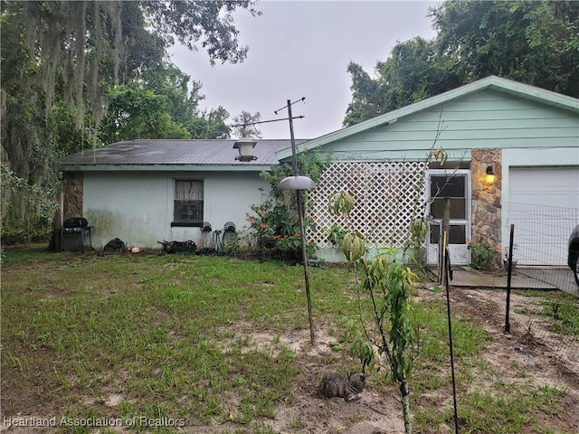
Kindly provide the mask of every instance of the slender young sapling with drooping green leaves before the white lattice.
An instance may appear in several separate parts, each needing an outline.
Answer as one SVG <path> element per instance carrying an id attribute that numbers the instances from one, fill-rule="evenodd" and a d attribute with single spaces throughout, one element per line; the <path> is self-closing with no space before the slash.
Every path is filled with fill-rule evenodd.
<path id="1" fill-rule="evenodd" d="M 347 200 L 348 196 L 347 193 L 333 194 L 328 210 L 336 215 L 347 216 L 353 209 Z M 384 250 L 373 259 L 366 259 L 366 241 L 360 232 L 346 234 L 342 251 L 348 265 L 356 271 L 356 282 L 359 283 L 362 293 L 358 298 L 359 325 L 350 322 L 346 331 L 348 337 L 354 337 L 351 352 L 359 358 L 363 371 L 366 367 L 380 367 L 385 361 L 400 392 L 404 429 L 410 434 L 412 429 L 408 384 L 417 342 L 410 296 L 413 282 L 418 276 L 406 266 L 403 261 L 405 255 L 400 249 Z M 364 319 L 362 295 L 370 301 L 371 324 L 366 324 Z M 377 351 L 374 351 L 374 348 Z"/>

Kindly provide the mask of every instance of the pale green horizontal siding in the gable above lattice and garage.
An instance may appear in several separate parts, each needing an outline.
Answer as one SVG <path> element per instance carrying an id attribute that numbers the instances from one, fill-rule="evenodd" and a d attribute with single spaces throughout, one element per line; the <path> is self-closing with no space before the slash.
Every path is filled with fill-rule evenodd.
<path id="1" fill-rule="evenodd" d="M 438 131 L 438 139 L 437 139 Z M 334 160 L 423 159 L 436 142 L 452 159 L 479 147 L 579 146 L 579 116 L 497 90 L 482 90 L 327 146 Z"/>

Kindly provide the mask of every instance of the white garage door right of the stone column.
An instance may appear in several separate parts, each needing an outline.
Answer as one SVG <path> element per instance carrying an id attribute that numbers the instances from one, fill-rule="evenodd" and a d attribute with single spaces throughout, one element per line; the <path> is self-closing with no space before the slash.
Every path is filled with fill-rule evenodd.
<path id="1" fill-rule="evenodd" d="M 508 193 L 518 263 L 565 266 L 566 244 L 579 224 L 579 168 L 511 168 Z"/>

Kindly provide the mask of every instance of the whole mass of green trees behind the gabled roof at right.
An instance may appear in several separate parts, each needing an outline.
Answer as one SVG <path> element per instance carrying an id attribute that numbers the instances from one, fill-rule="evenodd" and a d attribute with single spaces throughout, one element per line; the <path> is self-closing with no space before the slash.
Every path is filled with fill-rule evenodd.
<path id="1" fill-rule="evenodd" d="M 494 74 L 579 97 L 579 3 L 445 1 L 438 34 L 398 42 L 375 77 L 350 63 L 350 126 Z"/>

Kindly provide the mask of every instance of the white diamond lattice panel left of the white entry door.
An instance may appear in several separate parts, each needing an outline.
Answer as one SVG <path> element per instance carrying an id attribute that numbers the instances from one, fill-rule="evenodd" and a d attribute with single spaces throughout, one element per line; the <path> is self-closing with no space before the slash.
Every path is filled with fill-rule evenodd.
<path id="1" fill-rule="evenodd" d="M 309 192 L 317 230 L 309 240 L 332 247 L 327 232 L 334 224 L 360 231 L 372 245 L 401 246 L 409 238 L 413 217 L 424 209 L 422 177 L 425 162 L 334 163 L 324 171 L 318 188 Z M 422 185 L 421 187 L 417 187 Z M 418 188 L 418 191 L 417 191 Z M 347 191 L 355 206 L 350 221 L 327 211 L 329 197 Z"/>

